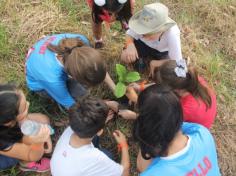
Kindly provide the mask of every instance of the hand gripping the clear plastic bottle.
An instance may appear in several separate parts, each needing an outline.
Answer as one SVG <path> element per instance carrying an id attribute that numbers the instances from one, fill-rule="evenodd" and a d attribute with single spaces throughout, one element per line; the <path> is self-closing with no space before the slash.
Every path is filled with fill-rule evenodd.
<path id="1" fill-rule="evenodd" d="M 42 125 L 39 132 L 36 135 L 29 136 L 32 143 L 44 143 L 47 142 L 48 138 L 50 138 L 50 129 L 48 125 Z"/>

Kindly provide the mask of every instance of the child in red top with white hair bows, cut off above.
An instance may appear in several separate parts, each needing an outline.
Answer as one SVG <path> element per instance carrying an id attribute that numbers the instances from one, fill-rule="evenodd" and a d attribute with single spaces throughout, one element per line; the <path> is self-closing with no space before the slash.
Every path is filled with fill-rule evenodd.
<path id="1" fill-rule="evenodd" d="M 87 0 L 92 10 L 92 28 L 95 48 L 102 48 L 102 22 L 110 24 L 120 21 L 123 29 L 128 29 L 128 21 L 133 14 L 135 0 Z"/>

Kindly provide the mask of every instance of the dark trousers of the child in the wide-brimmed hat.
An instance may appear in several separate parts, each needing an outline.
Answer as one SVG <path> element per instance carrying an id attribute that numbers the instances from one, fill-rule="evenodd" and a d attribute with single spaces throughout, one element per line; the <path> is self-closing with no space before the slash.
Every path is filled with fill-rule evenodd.
<path id="1" fill-rule="evenodd" d="M 168 58 L 168 51 L 160 52 L 156 49 L 147 46 L 141 40 L 134 40 L 134 44 L 140 58 L 151 60 L 161 60 Z"/>

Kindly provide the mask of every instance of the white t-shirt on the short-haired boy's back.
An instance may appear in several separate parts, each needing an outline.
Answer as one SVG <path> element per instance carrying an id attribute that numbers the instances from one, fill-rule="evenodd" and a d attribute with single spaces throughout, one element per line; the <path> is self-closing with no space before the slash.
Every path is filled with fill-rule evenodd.
<path id="1" fill-rule="evenodd" d="M 93 144 L 74 148 L 70 145 L 73 131 L 68 127 L 59 139 L 51 160 L 53 176 L 118 176 L 123 167 L 108 158 Z"/>

